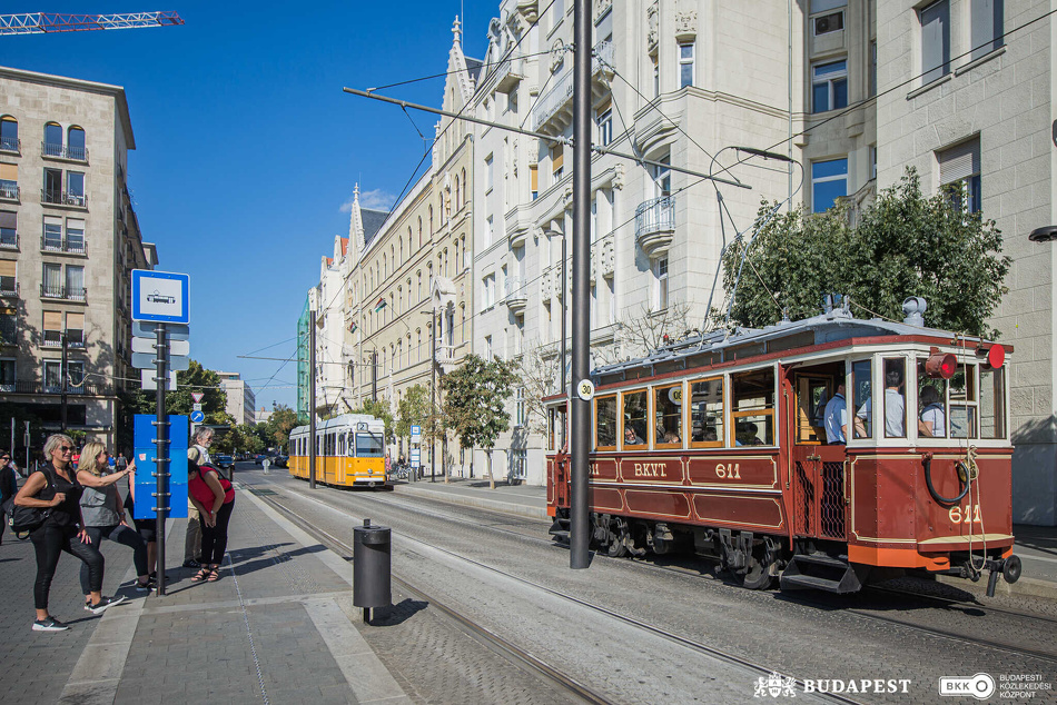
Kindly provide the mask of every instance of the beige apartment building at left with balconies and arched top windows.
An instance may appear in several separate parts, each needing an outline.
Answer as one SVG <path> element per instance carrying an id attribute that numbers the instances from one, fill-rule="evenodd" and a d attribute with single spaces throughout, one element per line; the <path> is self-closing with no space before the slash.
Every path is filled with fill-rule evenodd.
<path id="1" fill-rule="evenodd" d="M 122 88 L 0 68 L 0 401 L 111 449 L 139 378 L 129 272 L 157 264 L 126 185 L 135 148 Z"/>

